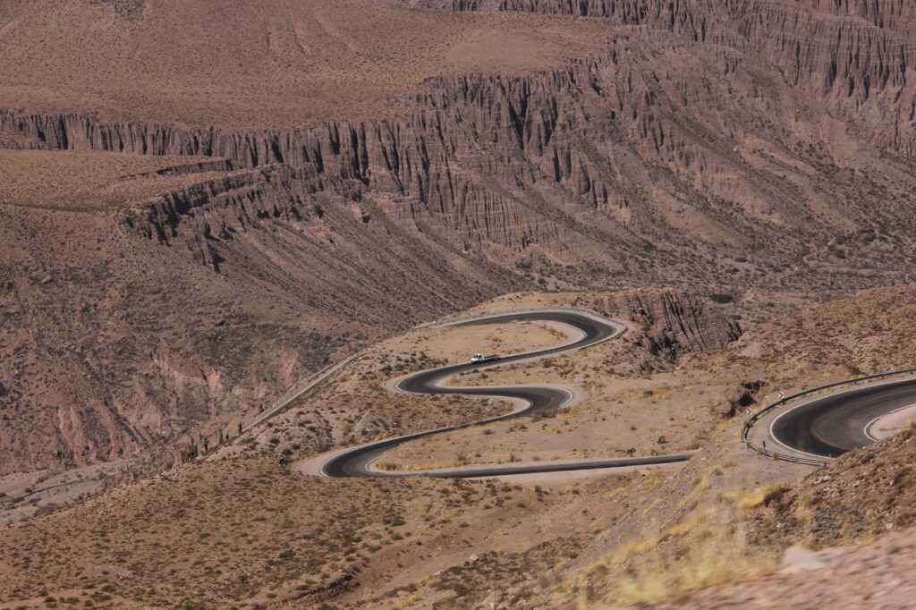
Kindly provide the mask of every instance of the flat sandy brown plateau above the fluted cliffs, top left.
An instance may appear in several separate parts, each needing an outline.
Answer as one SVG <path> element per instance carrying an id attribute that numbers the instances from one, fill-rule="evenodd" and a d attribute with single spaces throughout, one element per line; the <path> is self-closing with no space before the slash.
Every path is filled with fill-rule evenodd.
<path id="1" fill-rule="evenodd" d="M 605 24 L 376 0 L 23 0 L 0 7 L 0 96 L 115 120 L 306 126 L 379 117 L 433 76 L 518 73 L 596 49 Z"/>

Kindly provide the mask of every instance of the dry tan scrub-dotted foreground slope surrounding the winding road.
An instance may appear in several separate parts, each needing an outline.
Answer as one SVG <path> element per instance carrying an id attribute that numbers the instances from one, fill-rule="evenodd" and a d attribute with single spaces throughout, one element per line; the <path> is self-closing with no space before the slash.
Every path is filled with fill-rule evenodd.
<path id="1" fill-rule="evenodd" d="M 894 332 L 906 336 L 907 322 L 882 311 L 891 303 L 894 310 L 906 310 L 912 290 L 866 292 L 749 329 L 724 348 L 684 347 L 671 360 L 645 360 L 649 356 L 642 353 L 658 329 L 632 330 L 628 341 L 617 345 L 618 352 L 602 354 L 605 367 L 651 362 L 659 368 L 643 374 L 645 378 L 619 376 L 634 392 L 620 398 L 625 406 L 651 412 L 656 408 L 651 401 L 663 399 L 656 404 L 689 413 L 702 402 L 703 395 L 694 388 L 719 387 L 704 406 L 708 412 L 700 427 L 702 446 L 676 469 L 588 479 L 455 482 L 325 480 L 278 466 L 277 456 L 286 450 L 302 457 L 318 452 L 321 448 L 312 441 L 323 439 L 330 447 L 476 418 L 487 408 L 505 407 L 468 400 L 458 408 L 431 397 L 391 394 L 385 387 L 388 379 L 445 362 L 445 357 L 424 354 L 424 342 L 438 342 L 442 354 L 458 358 L 470 343 L 507 342 L 498 328 L 476 329 L 476 336 L 458 339 L 450 332 L 420 331 L 380 343 L 369 357 L 346 367 L 335 383 L 307 397 L 273 426 L 234 440 L 207 461 L 0 530 L 9 550 L 0 563 L 5 586 L 0 595 L 13 607 L 48 605 L 48 597 L 54 597 L 82 604 L 89 599 L 102 606 L 194 600 L 205 607 L 331 602 L 360 608 L 663 604 L 689 599 L 709 587 L 726 587 L 722 595 L 734 595 L 729 592 L 744 588 L 727 589 L 730 583 L 779 571 L 783 551 L 800 541 L 835 545 L 887 531 L 888 522 L 893 528 L 907 527 L 909 513 L 903 508 L 909 506 L 909 492 L 898 488 L 909 489 L 911 477 L 900 466 L 908 463 L 908 454 L 900 451 L 916 446 L 911 442 L 916 437 L 898 437 L 851 454 L 834 464 L 836 484 L 817 479 L 822 473 L 810 474 L 799 485 L 811 469 L 748 452 L 738 435 L 743 417 L 723 397 L 729 396 L 725 387 L 747 391 L 747 381 L 757 380 L 771 359 L 782 365 L 769 379 L 776 387 L 791 389 L 837 375 L 845 365 L 833 363 L 844 363 L 847 352 L 834 335 L 855 342 L 859 333 L 869 332 L 856 330 L 861 316 L 853 312 L 867 315 L 878 328 L 900 325 Z M 651 307 L 653 301 L 643 296 L 643 306 Z M 593 298 L 514 295 L 474 313 L 520 309 L 539 300 L 556 306 Z M 671 298 L 671 292 L 662 291 L 659 298 Z M 785 342 L 785 351 L 780 351 L 782 343 L 766 343 L 781 341 L 800 324 L 821 318 L 836 324 L 805 333 L 805 345 L 818 349 L 816 360 L 810 351 L 796 352 L 795 343 Z M 706 320 L 711 324 L 703 327 L 708 334 L 715 325 L 713 318 Z M 529 346 L 551 334 L 537 324 L 513 330 L 530 333 L 520 342 Z M 403 351 L 396 351 L 396 345 Z M 878 343 L 856 345 L 861 348 L 857 362 L 883 365 L 905 357 L 888 353 Z M 749 346 L 754 346 L 752 353 Z M 878 354 L 886 360 L 875 360 Z M 582 356 L 591 362 L 588 352 Z M 667 368 L 662 367 L 665 362 Z M 539 379 L 555 376 L 562 362 L 556 359 L 540 369 Z M 805 376 L 808 381 L 799 381 Z M 639 384 L 649 382 L 666 385 L 671 398 L 645 395 Z M 759 400 L 769 387 L 758 388 L 752 398 Z M 383 397 L 384 402 L 379 399 Z M 616 402 L 608 403 L 607 408 L 618 408 Z M 688 407 L 674 411 L 674 405 L 682 404 Z M 367 405 L 379 409 L 387 428 L 373 429 L 368 420 L 356 417 Z M 728 415 L 732 412 L 736 416 Z M 554 435 L 571 447 L 587 443 L 589 427 L 611 430 L 614 424 L 599 424 L 595 416 L 591 410 L 573 408 L 565 419 L 571 431 Z M 327 422 L 315 424 L 320 417 Z M 529 429 L 543 435 L 536 428 L 542 422 L 553 425 L 545 419 L 529 422 Z M 520 439 L 518 452 L 535 440 L 526 430 L 506 430 L 500 441 L 507 448 L 513 433 Z M 271 442 L 272 437 L 280 441 Z M 638 452 L 657 447 L 648 440 Z M 293 449 L 293 442 L 301 443 L 299 449 Z M 902 449 L 888 453 L 893 447 Z M 814 496 L 806 496 L 812 485 Z M 854 496 L 831 495 L 840 488 L 859 487 L 872 505 L 859 507 Z M 895 497 L 902 502 L 890 502 Z M 845 507 L 845 499 L 856 509 Z M 825 529 L 819 523 L 837 527 Z M 824 538 L 825 532 L 833 533 Z M 860 551 L 848 554 L 858 557 Z M 884 561 L 878 553 L 869 557 L 873 559 L 867 565 Z M 791 576 L 772 578 L 795 582 Z M 765 600 L 757 587 L 748 585 L 747 590 Z"/>

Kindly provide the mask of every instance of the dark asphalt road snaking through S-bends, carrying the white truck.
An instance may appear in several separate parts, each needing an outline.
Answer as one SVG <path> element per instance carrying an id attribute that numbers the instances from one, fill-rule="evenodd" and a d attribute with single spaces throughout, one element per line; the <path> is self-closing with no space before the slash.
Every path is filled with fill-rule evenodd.
<path id="1" fill-rule="evenodd" d="M 606 460 L 580 460 L 563 463 L 530 463 L 530 464 L 497 464 L 487 466 L 469 466 L 435 471 L 410 471 L 390 472 L 379 471 L 372 467 L 383 453 L 398 445 L 415 441 L 417 439 L 441 434 L 452 430 L 461 430 L 471 426 L 478 426 L 505 419 L 522 418 L 536 412 L 549 412 L 560 408 L 573 399 L 573 393 L 563 387 L 552 386 L 511 386 L 511 387 L 451 387 L 444 382 L 451 376 L 474 370 L 494 368 L 496 366 L 510 365 L 522 361 L 546 358 L 557 354 L 566 354 L 587 347 L 616 339 L 627 327 L 617 321 L 610 321 L 600 316 L 584 313 L 577 310 L 536 310 L 516 313 L 502 313 L 484 316 L 470 320 L 454 321 L 442 324 L 440 328 L 454 328 L 481 324 L 505 324 L 512 321 L 546 321 L 564 324 L 572 327 L 575 338 L 567 343 L 562 343 L 551 348 L 542 349 L 524 354 L 509 355 L 499 360 L 485 364 L 459 364 L 442 366 L 428 371 L 421 371 L 411 376 L 400 379 L 395 388 L 401 392 L 414 394 L 462 394 L 465 396 L 508 398 L 518 405 L 513 411 L 494 418 L 482 419 L 458 426 L 449 426 L 435 430 L 424 430 L 413 434 L 406 434 L 384 441 L 368 442 L 363 445 L 351 447 L 338 452 L 333 452 L 322 458 L 319 472 L 324 476 L 350 477 L 350 476 L 405 476 L 427 475 L 451 478 L 473 478 L 481 476 L 500 476 L 508 474 L 555 473 L 565 471 L 582 471 L 600 468 L 632 468 L 636 466 L 660 465 L 667 463 L 685 462 L 691 457 L 690 453 L 677 453 L 672 455 L 655 455 L 642 458 L 606 459 Z"/>

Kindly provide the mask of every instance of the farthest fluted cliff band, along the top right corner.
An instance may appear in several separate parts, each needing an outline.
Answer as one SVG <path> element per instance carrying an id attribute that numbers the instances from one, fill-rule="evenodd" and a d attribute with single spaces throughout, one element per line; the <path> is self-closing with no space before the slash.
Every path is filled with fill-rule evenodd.
<path id="1" fill-rule="evenodd" d="M 389 0 L 456 11 L 521 11 L 608 19 L 768 61 L 792 87 L 865 122 L 878 147 L 912 156 L 916 90 L 908 70 L 916 8 L 897 0 Z"/>

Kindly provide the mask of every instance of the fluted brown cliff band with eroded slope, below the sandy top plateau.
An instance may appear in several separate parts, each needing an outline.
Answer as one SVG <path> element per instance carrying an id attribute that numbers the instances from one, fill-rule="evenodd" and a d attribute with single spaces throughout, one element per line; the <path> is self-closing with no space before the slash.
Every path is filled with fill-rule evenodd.
<path id="1" fill-rule="evenodd" d="M 708 281 L 722 279 L 722 249 L 779 266 L 810 256 L 828 234 L 883 225 L 906 196 L 899 185 L 911 169 L 888 154 L 916 154 L 909 7 L 442 6 L 594 16 L 613 27 L 605 52 L 562 70 L 434 79 L 398 120 L 229 133 L 7 110 L 0 141 L 287 166 L 311 174 L 296 188 L 377 198 L 395 222 L 498 265 L 605 286 L 632 274 L 677 279 L 668 270 L 685 256 Z M 863 189 L 886 196 L 865 203 Z"/>

